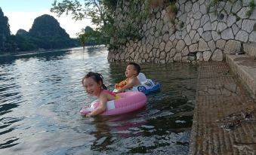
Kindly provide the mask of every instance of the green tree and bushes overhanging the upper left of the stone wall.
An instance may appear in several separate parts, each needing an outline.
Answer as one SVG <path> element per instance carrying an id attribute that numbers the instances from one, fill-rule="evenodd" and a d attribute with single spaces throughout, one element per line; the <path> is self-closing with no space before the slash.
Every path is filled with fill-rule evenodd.
<path id="1" fill-rule="evenodd" d="M 74 20 L 91 19 L 91 22 L 97 26 L 96 32 L 99 32 L 104 38 L 103 44 L 109 45 L 109 50 L 111 50 L 118 49 L 119 46 L 125 45 L 129 40 L 140 40 L 143 37 L 141 33 L 143 21 L 152 15 L 154 8 L 169 5 L 171 2 L 174 0 L 84 0 L 83 2 L 54 0 L 51 12 L 58 16 L 71 14 Z M 144 11 L 140 10 L 142 4 L 146 4 Z M 117 6 L 124 9 L 123 12 L 119 11 L 117 14 L 123 14 L 126 19 L 116 19 L 119 21 L 114 23 Z M 174 10 L 174 7 L 170 7 L 169 10 Z M 176 14 L 174 15 L 176 16 Z M 87 37 L 88 34 L 85 34 L 84 31 L 79 33 L 80 41 Z"/>

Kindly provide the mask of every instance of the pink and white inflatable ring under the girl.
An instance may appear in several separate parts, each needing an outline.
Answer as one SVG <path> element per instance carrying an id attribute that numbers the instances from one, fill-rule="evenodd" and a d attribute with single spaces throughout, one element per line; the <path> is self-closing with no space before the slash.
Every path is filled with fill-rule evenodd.
<path id="1" fill-rule="evenodd" d="M 131 111 L 136 111 L 143 108 L 147 102 L 147 96 L 141 92 L 125 92 L 119 93 L 121 99 L 106 102 L 106 111 L 100 115 L 115 115 L 115 114 L 125 114 Z M 85 106 L 80 111 L 80 114 L 86 115 L 91 111 L 94 111 L 99 106 L 99 101 L 94 101 L 91 106 Z"/>

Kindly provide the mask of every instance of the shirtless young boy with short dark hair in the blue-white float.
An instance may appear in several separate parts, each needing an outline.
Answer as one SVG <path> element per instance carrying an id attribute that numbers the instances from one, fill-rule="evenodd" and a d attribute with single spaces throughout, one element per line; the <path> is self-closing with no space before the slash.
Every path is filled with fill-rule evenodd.
<path id="1" fill-rule="evenodd" d="M 140 85 L 140 81 L 137 79 L 137 75 L 140 73 L 140 65 L 134 62 L 130 62 L 125 71 L 125 76 L 126 76 L 126 82 L 127 84 L 120 88 L 116 93 L 122 93 L 125 92 L 125 90 L 132 89 L 134 86 Z M 115 86 L 117 88 L 117 84 Z"/>

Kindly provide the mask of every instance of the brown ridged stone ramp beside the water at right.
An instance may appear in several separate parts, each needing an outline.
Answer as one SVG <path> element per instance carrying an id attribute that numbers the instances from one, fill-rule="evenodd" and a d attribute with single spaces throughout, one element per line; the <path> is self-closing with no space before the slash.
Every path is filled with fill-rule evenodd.
<path id="1" fill-rule="evenodd" d="M 225 62 L 202 62 L 190 154 L 256 154 L 256 102 Z"/>

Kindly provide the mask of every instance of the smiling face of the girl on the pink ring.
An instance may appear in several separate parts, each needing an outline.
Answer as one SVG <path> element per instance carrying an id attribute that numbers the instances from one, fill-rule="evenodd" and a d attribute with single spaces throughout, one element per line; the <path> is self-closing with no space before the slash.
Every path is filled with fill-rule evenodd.
<path id="1" fill-rule="evenodd" d="M 94 81 L 93 78 L 85 78 L 83 81 L 85 91 L 88 93 L 89 96 L 99 96 L 101 90 L 101 84 L 98 84 Z"/>

